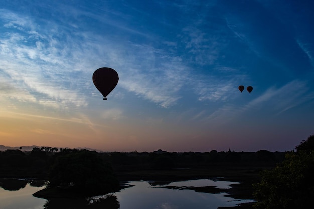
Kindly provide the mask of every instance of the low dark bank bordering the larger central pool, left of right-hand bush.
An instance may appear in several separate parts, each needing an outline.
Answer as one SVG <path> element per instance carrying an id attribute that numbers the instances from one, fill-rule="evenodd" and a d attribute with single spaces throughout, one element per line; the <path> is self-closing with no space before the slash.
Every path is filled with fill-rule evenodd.
<path id="1" fill-rule="evenodd" d="M 216 193 L 227 192 L 226 196 L 235 199 L 254 199 L 252 185 L 260 181 L 259 173 L 262 170 L 270 169 L 272 166 L 263 165 L 212 165 L 209 167 L 194 167 L 189 169 L 169 169 L 169 170 L 124 170 L 117 172 L 117 177 L 121 181 L 153 181 L 156 185 L 165 185 L 174 181 L 185 181 L 194 179 L 212 179 L 231 182 L 231 188 L 222 191 L 211 187 L 193 188 L 196 192 Z M 237 208 L 252 208 L 252 203 L 240 204 Z M 222 208 L 221 208 L 222 209 Z M 231 207 L 229 207 L 231 209 Z"/>

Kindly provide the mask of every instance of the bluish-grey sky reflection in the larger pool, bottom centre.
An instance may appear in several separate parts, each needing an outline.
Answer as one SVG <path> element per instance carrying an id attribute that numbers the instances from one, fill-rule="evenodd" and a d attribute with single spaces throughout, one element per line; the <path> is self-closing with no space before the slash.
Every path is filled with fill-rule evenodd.
<path id="1" fill-rule="evenodd" d="M 203 180 L 200 180 L 203 181 Z M 172 186 L 207 186 L 215 185 L 216 182 L 204 180 L 173 182 Z M 196 183 L 196 184 L 194 184 Z M 222 182 L 221 182 L 222 183 Z M 227 182 L 230 184 L 230 182 Z M 234 201 L 233 198 L 224 197 L 224 194 L 200 193 L 192 190 L 174 190 L 167 188 L 151 187 L 148 182 L 130 182 L 135 185 L 131 188 L 115 193 L 120 209 L 185 209 L 185 208 L 218 208 L 219 206 L 236 206 L 236 203 L 245 201 Z M 221 184 L 220 186 L 223 187 Z M 225 182 L 225 186 L 226 182 Z"/>

